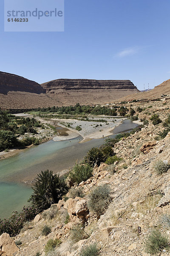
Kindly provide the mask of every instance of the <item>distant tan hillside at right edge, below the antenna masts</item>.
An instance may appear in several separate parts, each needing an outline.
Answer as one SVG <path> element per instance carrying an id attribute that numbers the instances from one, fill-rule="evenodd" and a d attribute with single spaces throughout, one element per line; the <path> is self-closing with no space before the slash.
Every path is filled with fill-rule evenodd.
<path id="1" fill-rule="evenodd" d="M 128 96 L 122 97 L 120 101 L 128 101 L 133 99 L 136 99 L 136 100 L 157 99 L 157 98 L 160 98 L 162 94 L 165 94 L 165 95 L 170 94 L 170 79 L 157 85 L 153 90 L 138 93 L 138 94 L 130 94 Z"/>

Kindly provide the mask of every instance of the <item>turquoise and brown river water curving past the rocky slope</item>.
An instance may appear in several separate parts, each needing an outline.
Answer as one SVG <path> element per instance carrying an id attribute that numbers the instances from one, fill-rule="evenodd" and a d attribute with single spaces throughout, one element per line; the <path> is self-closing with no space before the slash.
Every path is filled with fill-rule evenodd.
<path id="1" fill-rule="evenodd" d="M 129 131 L 138 125 L 125 119 L 113 130 L 114 134 Z M 109 137 L 114 137 L 115 135 Z M 24 180 L 33 180 L 37 173 L 46 169 L 59 173 L 69 169 L 85 156 L 92 147 L 104 143 L 104 139 L 79 143 L 82 137 L 72 140 L 53 140 L 21 151 L 19 154 L 0 160 L 0 218 L 7 218 L 14 210 L 20 211 L 32 193 Z"/>

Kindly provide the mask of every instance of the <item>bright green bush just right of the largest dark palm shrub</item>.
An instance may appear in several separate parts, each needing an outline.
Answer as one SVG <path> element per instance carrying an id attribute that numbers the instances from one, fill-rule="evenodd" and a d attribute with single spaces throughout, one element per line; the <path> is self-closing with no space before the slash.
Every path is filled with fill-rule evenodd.
<path id="1" fill-rule="evenodd" d="M 92 175 L 93 169 L 88 164 L 76 164 L 68 177 L 72 183 L 79 184 L 82 181 L 88 180 Z"/>

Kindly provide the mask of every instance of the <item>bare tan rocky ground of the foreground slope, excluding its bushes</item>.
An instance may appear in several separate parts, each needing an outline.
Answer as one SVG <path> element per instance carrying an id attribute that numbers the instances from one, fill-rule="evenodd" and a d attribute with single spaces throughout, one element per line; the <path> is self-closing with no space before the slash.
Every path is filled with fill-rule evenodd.
<path id="1" fill-rule="evenodd" d="M 138 104 L 132 104 L 135 111 Z M 115 144 L 114 151 L 123 159 L 122 162 L 115 163 L 114 171 L 113 166 L 102 163 L 94 169 L 90 179 L 74 188 L 83 189 L 83 198 L 71 198 L 68 192 L 67 201 L 60 200 L 26 224 L 14 238 L 22 242 L 18 246 L 20 250 L 14 247 L 15 256 L 35 256 L 37 252 L 45 255 L 45 244 L 49 239 L 56 238 L 62 243 L 50 256 L 78 256 L 82 248 L 94 243 L 100 249 L 99 256 L 149 256 L 144 250 L 144 241 L 155 228 L 170 241 L 170 224 L 163 218 L 170 215 L 170 169 L 158 175 L 154 168 L 158 160 L 170 163 L 170 132 L 164 139 L 156 140 L 157 133 L 164 128 L 162 123 L 154 126 L 150 121 L 150 113 L 153 112 L 159 113 L 164 121 L 169 115 L 170 101 L 167 100 L 166 105 L 155 101 L 152 108 L 148 108 L 148 103 L 142 106 L 150 112 L 145 109 L 138 113 L 139 118 L 147 119 L 149 125 Z M 112 201 L 98 218 L 89 211 L 87 203 L 89 192 L 101 184 L 111 187 Z M 88 236 L 85 233 L 80 236 L 80 230 L 77 230 L 75 241 L 72 230 L 81 222 L 85 223 Z M 51 233 L 42 236 L 45 224 L 51 227 Z M 0 248 L 11 244 L 8 239 L 4 241 L 3 237 L 0 238 Z M 167 248 L 160 250 L 159 256 L 167 255 Z"/>

